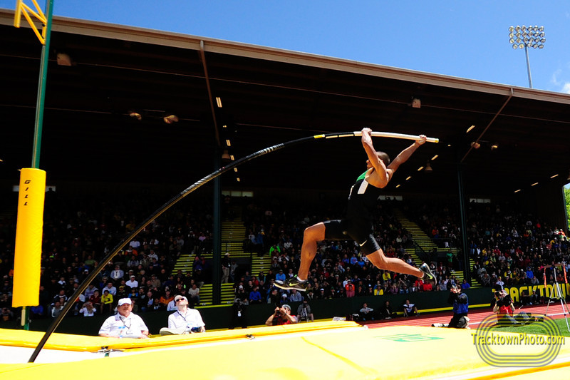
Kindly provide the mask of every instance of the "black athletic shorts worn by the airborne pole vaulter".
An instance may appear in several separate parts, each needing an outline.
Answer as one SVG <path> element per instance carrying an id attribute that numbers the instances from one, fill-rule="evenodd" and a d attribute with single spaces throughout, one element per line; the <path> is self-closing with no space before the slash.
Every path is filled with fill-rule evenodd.
<path id="1" fill-rule="evenodd" d="M 326 240 L 346 240 L 350 237 L 361 246 L 365 256 L 380 250 L 380 245 L 372 235 L 372 225 L 356 220 L 327 220 L 325 225 Z"/>

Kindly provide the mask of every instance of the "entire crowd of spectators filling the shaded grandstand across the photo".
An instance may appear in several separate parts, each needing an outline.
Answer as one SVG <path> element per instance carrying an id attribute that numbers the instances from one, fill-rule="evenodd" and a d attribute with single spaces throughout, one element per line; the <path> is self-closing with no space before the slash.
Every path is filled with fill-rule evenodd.
<path id="1" fill-rule="evenodd" d="M 210 202 L 200 199 L 180 202 L 153 220 L 105 265 L 81 297 L 70 299 L 74 289 L 98 267 L 100 260 L 164 199 L 141 192 L 64 201 L 55 192 L 48 192 L 40 303 L 31 308 L 31 317 L 56 317 L 67 302 L 74 303 L 72 314 L 77 316 L 113 314 L 118 299 L 125 297 L 133 300 L 133 312 L 173 310 L 172 300 L 177 294 L 187 297 L 190 306 L 199 303 L 199 287 L 211 281 L 214 270 L 209 260 L 204 260 L 204 255 L 212 251 L 212 207 Z M 399 257 L 414 265 L 409 253 L 414 250 L 411 235 L 394 216 L 395 202 L 378 203 L 374 212 L 375 237 L 386 256 Z M 243 304 L 282 305 L 313 299 L 446 291 L 453 285 L 470 287 L 467 282 L 455 279 L 455 270 L 462 266 L 457 257 L 430 260 L 432 272 L 437 276 L 434 288 L 417 277 L 375 268 L 351 240 L 324 241 L 318 245 L 304 294 L 274 287 L 275 279 L 296 274 L 305 227 L 326 218 L 342 217 L 343 210 L 335 209 L 336 204 L 328 201 L 289 207 L 285 201 L 245 202 L 244 250 L 252 255 L 268 255 L 271 265 L 264 272 L 252 274 L 248 270 L 238 272 L 235 262 L 222 258 L 222 264 L 231 267 L 231 271 L 222 274 L 234 283 L 235 298 Z M 443 250 L 460 247 L 460 222 L 454 207 L 436 202 L 420 206 L 398 202 L 396 207 L 418 222 Z M 564 232 L 531 215 L 521 215 L 514 205 L 470 203 L 467 226 L 468 255 L 474 263 L 470 268 L 472 278 L 483 286 L 542 283 L 544 266 L 569 262 Z M 0 220 L 2 320 L 18 317 L 11 309 L 15 227 L 15 215 Z M 192 270 L 172 273 L 177 257 L 182 254 L 195 257 Z M 557 279 L 563 282 L 564 271 L 559 269 Z M 546 277 L 550 283 L 554 280 L 552 269 L 546 269 Z"/>

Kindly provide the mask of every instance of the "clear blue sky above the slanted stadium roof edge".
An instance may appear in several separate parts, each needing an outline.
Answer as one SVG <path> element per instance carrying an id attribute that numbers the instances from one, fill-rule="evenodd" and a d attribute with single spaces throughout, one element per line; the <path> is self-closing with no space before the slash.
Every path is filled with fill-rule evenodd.
<path id="1" fill-rule="evenodd" d="M 529 86 L 524 50 L 511 47 L 508 28 L 539 25 L 546 43 L 529 50 L 533 87 L 570 93 L 567 0 L 54 0 L 53 13 L 520 87 Z"/>

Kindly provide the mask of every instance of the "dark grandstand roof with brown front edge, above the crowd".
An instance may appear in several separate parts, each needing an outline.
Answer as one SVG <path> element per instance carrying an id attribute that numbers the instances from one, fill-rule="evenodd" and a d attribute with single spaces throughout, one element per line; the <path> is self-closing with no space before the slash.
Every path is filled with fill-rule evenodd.
<path id="1" fill-rule="evenodd" d="M 13 19 L 13 11 L 0 10 L 0 180 L 16 182 L 14 168 L 31 165 L 41 45 Z M 71 66 L 58 65 L 58 53 Z M 167 124 L 166 115 L 179 121 Z M 367 126 L 440 138 L 398 170 L 393 194 L 455 193 L 461 165 L 468 194 L 508 195 L 568 182 L 569 116 L 563 93 L 54 17 L 40 167 L 48 183 L 190 185 L 214 171 L 227 139 L 228 153 L 241 158 Z M 374 143 L 393 156 L 410 141 Z M 223 184 L 347 190 L 365 160 L 358 138 L 315 140 L 241 165 Z M 432 173 L 418 171 L 428 162 Z"/>

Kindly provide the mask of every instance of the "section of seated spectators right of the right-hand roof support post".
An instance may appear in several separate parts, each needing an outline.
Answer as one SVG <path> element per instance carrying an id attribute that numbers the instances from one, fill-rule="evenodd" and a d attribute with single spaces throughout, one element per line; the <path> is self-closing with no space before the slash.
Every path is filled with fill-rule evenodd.
<path id="1" fill-rule="evenodd" d="M 484 287 L 564 282 L 569 242 L 564 230 L 499 205 L 472 205 L 467 236 L 472 274 Z M 565 264 L 561 264 L 565 263 Z M 565 267 L 563 267 L 565 265 Z"/>

